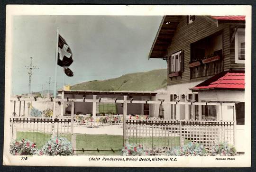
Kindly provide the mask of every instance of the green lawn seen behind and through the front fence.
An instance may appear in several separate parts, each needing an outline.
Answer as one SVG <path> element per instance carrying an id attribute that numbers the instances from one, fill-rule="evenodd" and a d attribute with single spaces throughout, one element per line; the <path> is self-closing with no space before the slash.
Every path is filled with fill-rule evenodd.
<path id="1" fill-rule="evenodd" d="M 71 135 L 60 135 L 71 141 Z M 17 132 L 17 139 L 23 138 L 37 143 L 37 148 L 41 148 L 47 140 L 51 138 L 50 134 L 38 132 Z M 130 137 L 128 142 L 131 144 L 142 144 L 146 148 L 152 148 L 152 137 L 136 138 Z M 153 137 L 154 147 L 174 147 L 180 143 L 179 137 Z M 189 140 L 184 140 L 184 144 L 189 143 Z M 123 147 L 123 136 L 115 135 L 88 135 L 76 134 L 76 151 L 78 155 L 120 155 Z M 82 151 L 83 150 L 83 151 Z"/>

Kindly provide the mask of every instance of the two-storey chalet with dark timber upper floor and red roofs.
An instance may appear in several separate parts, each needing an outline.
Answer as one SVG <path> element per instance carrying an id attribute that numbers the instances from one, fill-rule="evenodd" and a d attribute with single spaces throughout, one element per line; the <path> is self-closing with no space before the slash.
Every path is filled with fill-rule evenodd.
<path id="1" fill-rule="evenodd" d="M 149 59 L 167 61 L 169 101 L 235 102 L 244 125 L 245 16 L 164 16 Z M 166 119 L 234 120 L 229 106 L 171 105 Z"/>

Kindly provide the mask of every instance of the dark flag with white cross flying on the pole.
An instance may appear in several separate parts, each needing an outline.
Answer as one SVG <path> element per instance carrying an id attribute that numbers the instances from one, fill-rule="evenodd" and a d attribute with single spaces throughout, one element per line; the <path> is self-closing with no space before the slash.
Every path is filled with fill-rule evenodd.
<path id="1" fill-rule="evenodd" d="M 73 72 L 68 67 L 73 63 L 72 51 L 65 39 L 59 35 L 58 42 L 58 65 L 64 68 L 67 76 L 73 76 Z"/>

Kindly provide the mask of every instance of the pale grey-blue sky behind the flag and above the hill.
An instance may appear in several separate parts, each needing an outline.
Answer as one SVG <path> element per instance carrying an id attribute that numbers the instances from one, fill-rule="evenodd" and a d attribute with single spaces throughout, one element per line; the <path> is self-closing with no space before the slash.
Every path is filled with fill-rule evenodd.
<path id="1" fill-rule="evenodd" d="M 28 92 L 26 65 L 33 70 L 31 91 L 54 90 L 56 30 L 73 52 L 65 76 L 57 66 L 57 88 L 64 84 L 116 78 L 126 73 L 165 69 L 162 59 L 148 60 L 162 16 L 15 16 L 12 20 L 12 94 Z"/>

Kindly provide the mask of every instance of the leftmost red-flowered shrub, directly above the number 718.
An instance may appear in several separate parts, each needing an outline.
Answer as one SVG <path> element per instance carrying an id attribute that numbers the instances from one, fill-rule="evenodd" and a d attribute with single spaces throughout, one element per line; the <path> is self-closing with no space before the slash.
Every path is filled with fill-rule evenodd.
<path id="1" fill-rule="evenodd" d="M 32 155 L 36 152 L 36 144 L 22 139 L 20 141 L 12 141 L 10 144 L 10 154 L 12 155 Z"/>

